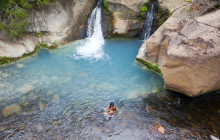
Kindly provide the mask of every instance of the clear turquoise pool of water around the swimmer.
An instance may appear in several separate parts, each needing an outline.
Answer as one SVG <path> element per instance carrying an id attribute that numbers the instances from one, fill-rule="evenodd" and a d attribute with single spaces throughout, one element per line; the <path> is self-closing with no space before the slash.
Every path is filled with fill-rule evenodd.
<path id="1" fill-rule="evenodd" d="M 138 40 L 106 40 L 98 61 L 75 60 L 73 42 L 0 67 L 3 139 L 208 139 L 220 137 L 220 95 L 167 92 L 134 62 Z M 103 115 L 110 101 L 119 113 Z M 165 135 L 157 131 L 166 129 Z"/>

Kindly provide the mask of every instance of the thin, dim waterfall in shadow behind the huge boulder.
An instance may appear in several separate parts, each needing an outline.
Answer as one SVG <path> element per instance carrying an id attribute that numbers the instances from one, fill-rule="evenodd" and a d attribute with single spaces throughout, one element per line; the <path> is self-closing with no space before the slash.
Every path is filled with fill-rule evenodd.
<path id="1" fill-rule="evenodd" d="M 149 8 L 150 9 L 147 11 L 146 20 L 144 22 L 143 31 L 141 35 L 141 39 L 143 40 L 147 40 L 148 38 L 150 38 L 152 32 L 152 25 L 155 13 L 154 4 L 150 4 Z"/>

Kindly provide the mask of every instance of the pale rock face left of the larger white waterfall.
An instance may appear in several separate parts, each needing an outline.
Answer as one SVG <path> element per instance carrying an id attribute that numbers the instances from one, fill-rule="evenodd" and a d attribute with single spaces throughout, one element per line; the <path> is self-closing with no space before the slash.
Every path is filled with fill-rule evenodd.
<path id="1" fill-rule="evenodd" d="M 22 39 L 9 39 L 6 33 L 0 32 L 0 57 L 22 56 L 42 42 L 57 45 L 84 38 L 87 18 L 95 4 L 96 0 L 56 0 L 34 8 L 29 13 L 31 23 Z"/>

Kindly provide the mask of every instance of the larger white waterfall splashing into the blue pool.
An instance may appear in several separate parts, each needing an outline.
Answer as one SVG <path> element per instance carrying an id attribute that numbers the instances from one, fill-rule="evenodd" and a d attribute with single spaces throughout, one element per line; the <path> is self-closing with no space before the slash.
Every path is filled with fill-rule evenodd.
<path id="1" fill-rule="evenodd" d="M 100 59 L 104 56 L 103 45 L 105 43 L 101 26 L 101 3 L 98 1 L 88 20 L 87 38 L 84 44 L 76 48 L 75 58 Z"/>

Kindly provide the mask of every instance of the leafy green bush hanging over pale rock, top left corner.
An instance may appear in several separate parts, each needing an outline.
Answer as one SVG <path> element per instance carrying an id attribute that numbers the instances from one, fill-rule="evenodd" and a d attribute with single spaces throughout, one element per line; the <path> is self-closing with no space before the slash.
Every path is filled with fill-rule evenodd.
<path id="1" fill-rule="evenodd" d="M 29 26 L 28 10 L 32 9 L 30 0 L 0 1 L 0 30 L 8 32 L 10 37 L 22 37 Z M 49 4 L 49 0 L 37 0 L 36 4 Z"/>

